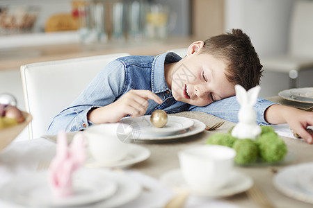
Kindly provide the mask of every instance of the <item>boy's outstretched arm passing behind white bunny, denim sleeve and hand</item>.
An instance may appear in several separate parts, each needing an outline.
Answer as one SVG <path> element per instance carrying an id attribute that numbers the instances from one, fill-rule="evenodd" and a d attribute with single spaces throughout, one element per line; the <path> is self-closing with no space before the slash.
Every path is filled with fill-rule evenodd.
<path id="1" fill-rule="evenodd" d="M 294 107 L 279 105 L 278 103 L 273 103 L 263 98 L 257 99 L 257 103 L 254 108 L 257 112 L 258 124 L 268 125 L 288 123 L 289 127 L 300 137 L 305 139 L 307 143 L 313 144 L 312 135 L 305 130 L 308 125 L 313 125 L 313 112 L 306 112 L 304 110 L 298 110 Z M 191 105 L 189 110 L 206 112 L 227 121 L 238 123 L 240 105 L 236 101 L 236 97 L 232 96 L 204 107 Z"/>

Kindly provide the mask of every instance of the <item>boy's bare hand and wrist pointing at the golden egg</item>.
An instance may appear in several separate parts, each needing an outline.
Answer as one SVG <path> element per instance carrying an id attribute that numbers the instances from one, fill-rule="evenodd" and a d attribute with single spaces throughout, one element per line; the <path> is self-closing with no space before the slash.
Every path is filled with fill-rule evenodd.
<path id="1" fill-rule="evenodd" d="M 120 97 L 118 101 L 90 112 L 88 120 L 95 124 L 116 123 L 128 114 L 131 117 L 142 116 L 147 111 L 149 99 L 159 104 L 163 103 L 161 98 L 149 90 L 133 89 Z"/>

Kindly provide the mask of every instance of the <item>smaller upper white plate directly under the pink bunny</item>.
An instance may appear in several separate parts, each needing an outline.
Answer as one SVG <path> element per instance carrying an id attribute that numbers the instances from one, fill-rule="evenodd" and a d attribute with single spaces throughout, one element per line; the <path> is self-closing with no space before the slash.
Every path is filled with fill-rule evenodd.
<path id="1" fill-rule="evenodd" d="M 56 198 L 48 184 L 47 171 L 13 177 L 1 187 L 0 199 L 26 207 L 65 207 L 97 202 L 113 196 L 118 184 L 103 173 L 80 169 L 73 175 L 73 195 Z"/>

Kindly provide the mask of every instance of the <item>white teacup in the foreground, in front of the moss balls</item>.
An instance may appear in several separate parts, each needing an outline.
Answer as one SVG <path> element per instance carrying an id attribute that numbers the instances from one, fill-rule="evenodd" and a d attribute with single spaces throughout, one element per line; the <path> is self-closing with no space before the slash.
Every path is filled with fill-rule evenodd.
<path id="1" fill-rule="evenodd" d="M 178 153 L 182 175 L 195 193 L 210 193 L 229 182 L 236 151 L 219 145 L 195 146 Z"/>

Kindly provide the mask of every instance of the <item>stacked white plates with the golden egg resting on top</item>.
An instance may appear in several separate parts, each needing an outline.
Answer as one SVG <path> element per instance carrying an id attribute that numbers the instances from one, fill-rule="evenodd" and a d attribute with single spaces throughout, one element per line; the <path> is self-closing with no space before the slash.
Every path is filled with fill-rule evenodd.
<path id="1" fill-rule="evenodd" d="M 133 128 L 132 140 L 155 141 L 188 137 L 205 129 L 205 124 L 195 119 L 181 116 L 168 116 L 168 123 L 163 128 L 157 128 L 150 122 L 150 116 L 138 118 L 127 117 L 120 123 L 126 123 Z"/>

